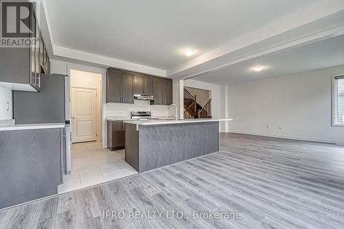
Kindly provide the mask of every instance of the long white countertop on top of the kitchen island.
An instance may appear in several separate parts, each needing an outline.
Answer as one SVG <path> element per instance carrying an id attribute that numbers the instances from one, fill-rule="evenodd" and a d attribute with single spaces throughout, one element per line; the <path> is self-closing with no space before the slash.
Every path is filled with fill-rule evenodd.
<path id="1" fill-rule="evenodd" d="M 125 123 L 137 124 L 142 126 L 148 125 L 159 125 L 159 124 L 184 124 L 184 123 L 193 123 L 193 122 L 221 122 L 221 121 L 231 121 L 232 118 L 222 118 L 222 119 L 213 119 L 213 118 L 196 118 L 196 119 L 182 119 L 182 120 L 128 120 Z"/>

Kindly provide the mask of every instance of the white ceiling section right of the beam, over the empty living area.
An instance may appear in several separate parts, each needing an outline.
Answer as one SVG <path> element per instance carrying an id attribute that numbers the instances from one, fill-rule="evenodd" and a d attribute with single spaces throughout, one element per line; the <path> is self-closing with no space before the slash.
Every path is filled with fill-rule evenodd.
<path id="1" fill-rule="evenodd" d="M 343 35 L 252 58 L 193 79 L 219 85 L 230 85 L 337 65 L 344 65 Z M 266 69 L 255 72 L 251 69 L 255 66 L 265 66 Z"/>

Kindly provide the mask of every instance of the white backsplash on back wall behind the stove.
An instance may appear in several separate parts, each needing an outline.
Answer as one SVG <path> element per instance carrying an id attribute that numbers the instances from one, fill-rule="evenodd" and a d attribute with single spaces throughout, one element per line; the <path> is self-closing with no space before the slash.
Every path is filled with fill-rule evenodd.
<path id="1" fill-rule="evenodd" d="M 169 116 L 169 106 L 150 105 L 149 101 L 134 100 L 134 104 L 105 103 L 104 114 L 106 116 L 130 117 L 131 111 L 151 111 L 152 116 Z"/>

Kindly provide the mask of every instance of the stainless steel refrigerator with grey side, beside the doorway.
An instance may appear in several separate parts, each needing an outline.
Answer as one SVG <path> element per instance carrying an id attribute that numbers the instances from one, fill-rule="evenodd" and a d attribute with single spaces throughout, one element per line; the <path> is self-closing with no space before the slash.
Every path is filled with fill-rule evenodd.
<path id="1" fill-rule="evenodd" d="M 65 123 L 64 170 L 70 165 L 69 79 L 62 74 L 41 74 L 39 92 L 13 91 L 16 124 Z"/>

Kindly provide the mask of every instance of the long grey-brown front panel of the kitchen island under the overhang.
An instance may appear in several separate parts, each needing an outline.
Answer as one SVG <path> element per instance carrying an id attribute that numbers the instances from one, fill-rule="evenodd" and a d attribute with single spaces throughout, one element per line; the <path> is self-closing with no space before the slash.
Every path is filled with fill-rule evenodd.
<path id="1" fill-rule="evenodd" d="M 219 122 L 140 126 L 140 172 L 219 151 Z"/>

